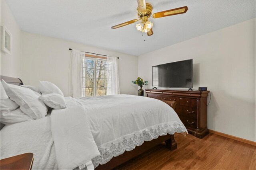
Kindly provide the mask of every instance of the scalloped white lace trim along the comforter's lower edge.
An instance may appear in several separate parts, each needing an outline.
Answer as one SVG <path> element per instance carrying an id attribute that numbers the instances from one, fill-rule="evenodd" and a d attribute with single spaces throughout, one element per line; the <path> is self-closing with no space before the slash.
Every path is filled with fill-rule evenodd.
<path id="1" fill-rule="evenodd" d="M 173 135 L 175 132 L 185 132 L 184 134 L 188 133 L 186 127 L 181 121 L 172 121 L 154 125 L 140 131 L 135 131 L 132 134 L 122 136 L 114 141 L 104 143 L 98 146 L 101 156 L 97 156 L 96 158 L 92 159 L 94 168 L 96 168 L 99 164 L 106 164 L 113 158 L 113 156 L 116 157 L 123 154 L 125 151 L 133 150 L 136 146 L 142 145 L 144 141 L 151 141 L 159 136 L 167 134 Z M 83 164 L 75 169 L 86 169 L 86 166 Z"/>

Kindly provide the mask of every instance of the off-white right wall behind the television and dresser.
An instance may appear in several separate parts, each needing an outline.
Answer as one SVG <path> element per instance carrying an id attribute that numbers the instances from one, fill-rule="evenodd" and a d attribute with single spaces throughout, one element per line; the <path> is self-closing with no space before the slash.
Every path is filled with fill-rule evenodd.
<path id="1" fill-rule="evenodd" d="M 153 65 L 185 59 L 193 59 L 194 89 L 212 94 L 208 129 L 256 141 L 255 18 L 140 55 L 138 75 L 152 88 Z"/>

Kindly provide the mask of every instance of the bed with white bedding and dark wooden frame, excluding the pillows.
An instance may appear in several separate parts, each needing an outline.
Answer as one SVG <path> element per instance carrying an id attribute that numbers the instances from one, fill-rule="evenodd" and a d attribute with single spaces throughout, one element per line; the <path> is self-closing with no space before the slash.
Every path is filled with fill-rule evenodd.
<path id="1" fill-rule="evenodd" d="M 22 84 L 18 78 L 2 79 Z M 1 159 L 32 152 L 32 169 L 82 169 L 89 167 L 86 162 L 112 169 L 162 142 L 174 150 L 174 133 L 187 133 L 174 109 L 160 100 L 132 95 L 65 100 L 66 109 L 4 126 Z"/>

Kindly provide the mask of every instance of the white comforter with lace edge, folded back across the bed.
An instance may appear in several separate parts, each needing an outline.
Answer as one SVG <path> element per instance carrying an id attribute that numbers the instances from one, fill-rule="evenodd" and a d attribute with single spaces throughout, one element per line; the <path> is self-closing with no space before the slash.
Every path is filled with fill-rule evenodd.
<path id="1" fill-rule="evenodd" d="M 159 135 L 187 132 L 170 106 L 152 98 L 109 95 L 66 98 L 66 104 L 67 109 L 53 110 L 51 115 L 58 165 L 66 163 L 62 168 L 75 168 L 90 159 L 96 167 Z"/>

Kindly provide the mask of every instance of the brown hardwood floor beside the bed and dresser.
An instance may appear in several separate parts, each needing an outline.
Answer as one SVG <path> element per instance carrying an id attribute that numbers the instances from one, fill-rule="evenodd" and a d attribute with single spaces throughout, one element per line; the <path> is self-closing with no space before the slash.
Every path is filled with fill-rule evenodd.
<path id="1" fill-rule="evenodd" d="M 209 133 L 203 139 L 175 134 L 178 148 L 168 150 L 158 145 L 152 150 L 119 166 L 120 170 L 151 169 L 239 169 L 256 170 L 256 147 Z"/>

